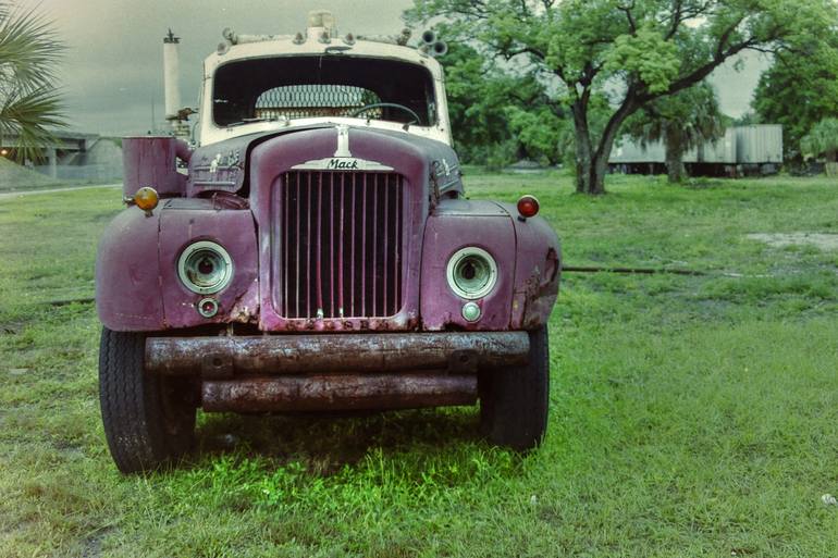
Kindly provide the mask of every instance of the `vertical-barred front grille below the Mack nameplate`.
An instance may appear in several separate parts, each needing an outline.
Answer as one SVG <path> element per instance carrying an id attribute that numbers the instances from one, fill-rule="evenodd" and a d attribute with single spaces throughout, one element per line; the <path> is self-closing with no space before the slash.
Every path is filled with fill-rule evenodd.
<path id="1" fill-rule="evenodd" d="M 385 318 L 399 311 L 400 175 L 291 171 L 280 196 L 285 318 Z"/>

